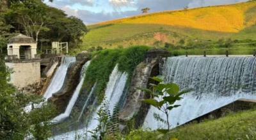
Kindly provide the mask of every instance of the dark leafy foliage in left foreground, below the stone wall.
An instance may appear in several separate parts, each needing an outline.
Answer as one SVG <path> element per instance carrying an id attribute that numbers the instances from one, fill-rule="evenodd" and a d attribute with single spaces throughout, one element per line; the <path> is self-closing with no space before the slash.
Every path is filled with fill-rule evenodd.
<path id="1" fill-rule="evenodd" d="M 24 94 L 8 83 L 10 73 L 12 69 L 6 67 L 0 59 L 0 139 L 24 139 L 28 132 L 36 139 L 45 139 L 50 136 L 49 121 L 54 117 L 56 109 L 45 103 L 42 108 L 26 113 L 26 104 L 42 99 L 35 94 Z M 44 132 L 44 136 L 40 135 L 41 132 Z"/>

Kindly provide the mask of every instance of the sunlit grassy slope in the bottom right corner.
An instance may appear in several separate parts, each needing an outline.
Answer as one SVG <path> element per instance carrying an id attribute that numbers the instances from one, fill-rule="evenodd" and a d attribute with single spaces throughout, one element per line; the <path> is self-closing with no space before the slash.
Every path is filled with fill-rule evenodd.
<path id="1" fill-rule="evenodd" d="M 243 111 L 218 120 L 209 120 L 199 124 L 177 128 L 179 133 L 172 137 L 178 139 L 251 139 L 256 136 L 250 130 L 256 130 L 256 110 Z"/>

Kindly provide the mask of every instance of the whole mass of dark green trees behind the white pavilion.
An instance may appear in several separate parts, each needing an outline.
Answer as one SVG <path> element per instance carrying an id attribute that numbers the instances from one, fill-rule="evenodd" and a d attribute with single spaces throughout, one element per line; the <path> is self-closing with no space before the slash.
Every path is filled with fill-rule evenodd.
<path id="1" fill-rule="evenodd" d="M 67 17 L 64 11 L 47 6 L 41 0 L 0 0 L 0 53 L 8 39 L 19 33 L 40 44 L 65 41 L 70 48 L 76 48 L 87 31 L 82 20 Z"/>

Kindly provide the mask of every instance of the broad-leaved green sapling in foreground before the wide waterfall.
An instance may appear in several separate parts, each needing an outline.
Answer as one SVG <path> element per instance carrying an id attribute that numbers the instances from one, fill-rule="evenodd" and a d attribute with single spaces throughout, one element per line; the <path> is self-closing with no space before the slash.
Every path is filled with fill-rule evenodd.
<path id="1" fill-rule="evenodd" d="M 180 95 L 190 92 L 191 89 L 179 92 L 179 86 L 175 83 L 163 83 L 163 76 L 157 76 L 151 79 L 159 83 L 157 85 L 150 83 L 150 88 L 137 87 L 136 89 L 143 90 L 151 95 L 151 99 L 143 99 L 142 101 L 154 106 L 166 115 L 166 123 L 169 130 L 170 123 L 168 118 L 170 110 L 179 107 L 180 105 L 174 105 L 174 103 L 182 99 Z"/>

